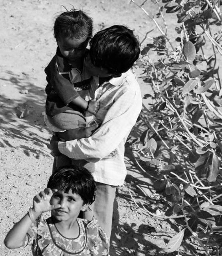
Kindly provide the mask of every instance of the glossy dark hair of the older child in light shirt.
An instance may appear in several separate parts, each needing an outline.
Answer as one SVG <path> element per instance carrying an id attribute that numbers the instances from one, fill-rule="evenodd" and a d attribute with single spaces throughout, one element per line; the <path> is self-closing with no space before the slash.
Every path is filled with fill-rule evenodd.
<path id="1" fill-rule="evenodd" d="M 121 74 L 139 58 L 139 41 L 125 26 L 111 26 L 97 32 L 89 42 L 93 65 L 111 74 Z"/>

